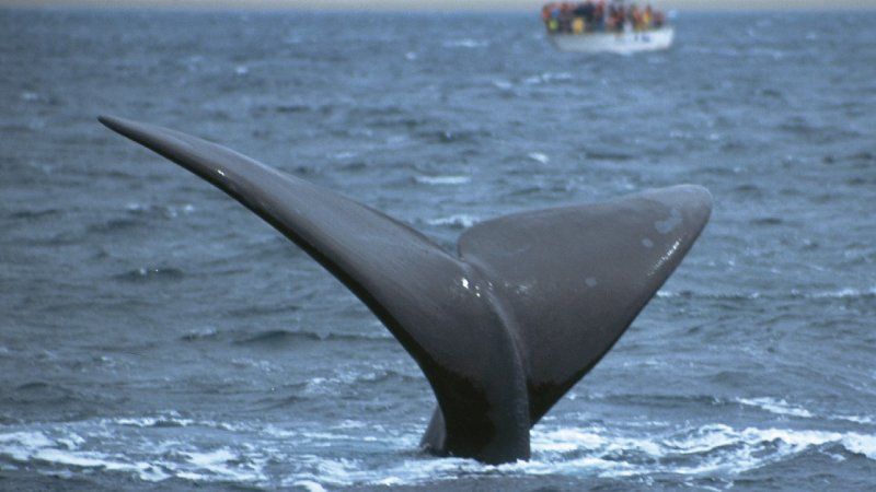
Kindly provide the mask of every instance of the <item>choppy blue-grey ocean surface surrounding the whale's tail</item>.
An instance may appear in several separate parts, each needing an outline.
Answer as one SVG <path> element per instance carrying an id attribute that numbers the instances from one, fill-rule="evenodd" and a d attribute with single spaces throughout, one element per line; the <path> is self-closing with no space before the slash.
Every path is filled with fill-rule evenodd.
<path id="1" fill-rule="evenodd" d="M 581 56 L 534 11 L 0 10 L 0 489 L 876 489 L 876 13 L 675 24 L 669 51 Z M 377 318 L 99 114 L 448 249 L 649 187 L 715 209 L 530 461 L 435 458 Z"/>

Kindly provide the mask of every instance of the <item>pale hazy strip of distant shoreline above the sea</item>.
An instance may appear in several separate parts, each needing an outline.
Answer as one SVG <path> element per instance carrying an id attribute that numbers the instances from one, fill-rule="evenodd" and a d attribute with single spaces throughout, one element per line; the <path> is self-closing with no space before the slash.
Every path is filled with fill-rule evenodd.
<path id="1" fill-rule="evenodd" d="M 369 10 L 537 10 L 541 0 L 0 0 L 0 5 L 369 9 Z M 666 9 L 690 10 L 828 10 L 876 9 L 876 0 L 665 0 Z"/>

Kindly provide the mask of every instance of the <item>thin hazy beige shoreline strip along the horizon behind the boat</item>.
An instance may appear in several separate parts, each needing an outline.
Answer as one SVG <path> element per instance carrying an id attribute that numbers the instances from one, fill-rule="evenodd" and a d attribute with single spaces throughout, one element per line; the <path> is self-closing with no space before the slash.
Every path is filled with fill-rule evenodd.
<path id="1" fill-rule="evenodd" d="M 160 9 L 160 10 L 296 10 L 313 12 L 537 12 L 542 2 L 526 0 L 485 0 L 462 2 L 458 0 L 376 0 L 362 1 L 321 0 L 0 0 L 0 8 L 70 8 L 70 9 Z M 645 3 L 641 1 L 639 3 Z M 684 12 L 747 12 L 747 11 L 876 11 L 876 0 L 739 0 L 735 2 L 710 0 L 675 0 L 652 2 L 664 10 Z M 728 4 L 730 3 L 730 4 Z"/>

